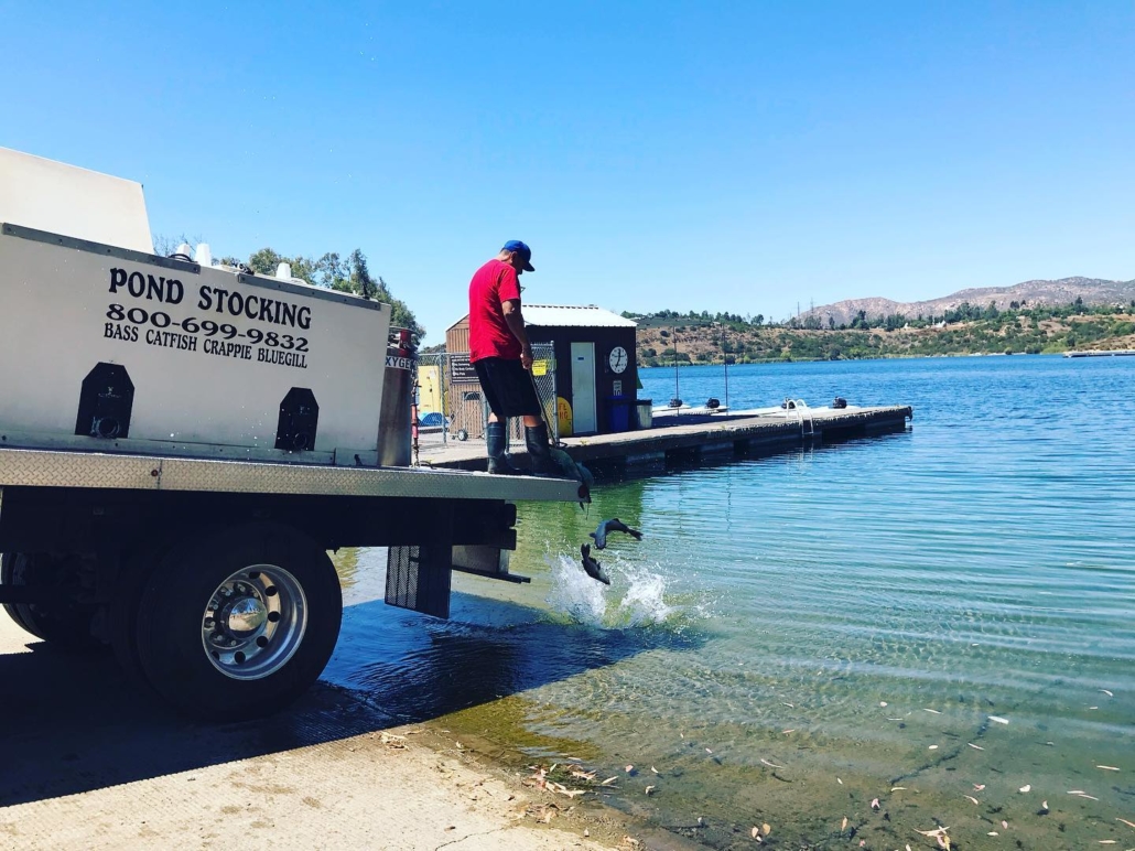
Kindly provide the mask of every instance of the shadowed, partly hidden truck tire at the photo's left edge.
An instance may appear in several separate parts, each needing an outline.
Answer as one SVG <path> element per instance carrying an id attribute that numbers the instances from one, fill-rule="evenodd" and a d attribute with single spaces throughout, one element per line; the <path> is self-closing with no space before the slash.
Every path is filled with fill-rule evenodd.
<path id="1" fill-rule="evenodd" d="M 52 603 L 6 603 L 5 610 L 23 630 L 61 649 L 101 648 L 91 632 L 94 606 L 75 599 L 83 587 L 84 570 L 81 555 L 5 553 L 0 556 L 0 585 L 50 588 L 56 595 Z"/>

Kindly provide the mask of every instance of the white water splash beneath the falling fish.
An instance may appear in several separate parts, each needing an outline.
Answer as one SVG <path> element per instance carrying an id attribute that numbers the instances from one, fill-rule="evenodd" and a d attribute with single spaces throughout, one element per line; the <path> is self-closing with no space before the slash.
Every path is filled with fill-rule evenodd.
<path id="1" fill-rule="evenodd" d="M 554 614 L 588 626 L 630 629 L 659 624 L 678 613 L 666 603 L 669 580 L 661 572 L 606 553 L 603 566 L 611 576 L 604 585 L 583 573 L 579 562 L 563 554 L 545 556 L 552 572 L 547 604 Z"/>

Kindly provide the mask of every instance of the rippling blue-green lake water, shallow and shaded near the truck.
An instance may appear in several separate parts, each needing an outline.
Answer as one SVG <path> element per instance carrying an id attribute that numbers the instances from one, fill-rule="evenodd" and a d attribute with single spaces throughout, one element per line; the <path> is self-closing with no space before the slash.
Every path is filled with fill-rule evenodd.
<path id="1" fill-rule="evenodd" d="M 679 381 L 725 401 L 720 366 Z M 642 384 L 674 395 L 673 370 Z M 381 550 L 340 553 L 326 676 L 518 768 L 582 760 L 708 848 L 765 824 L 781 848 L 1135 846 L 1135 357 L 729 371 L 733 408 L 836 395 L 915 419 L 522 505 L 531 584 L 455 575 L 448 622 L 373 601 Z M 606 588 L 578 551 L 609 516 L 645 537 L 599 554 Z"/>

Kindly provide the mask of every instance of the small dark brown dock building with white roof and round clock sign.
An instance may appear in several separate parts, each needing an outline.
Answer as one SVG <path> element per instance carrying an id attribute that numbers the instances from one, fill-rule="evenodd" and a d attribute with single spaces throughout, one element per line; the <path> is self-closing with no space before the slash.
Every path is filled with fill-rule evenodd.
<path id="1" fill-rule="evenodd" d="M 560 436 L 634 428 L 637 325 L 594 305 L 526 304 L 523 313 L 529 339 L 555 352 Z M 468 314 L 446 330 L 445 348 L 451 356 L 469 352 Z"/>

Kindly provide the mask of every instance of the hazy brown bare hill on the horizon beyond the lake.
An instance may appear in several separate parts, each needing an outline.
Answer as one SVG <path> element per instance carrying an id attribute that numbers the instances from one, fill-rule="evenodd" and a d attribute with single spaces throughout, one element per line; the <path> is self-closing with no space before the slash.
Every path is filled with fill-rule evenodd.
<path id="1" fill-rule="evenodd" d="M 1028 306 L 1063 305 L 1076 298 L 1084 304 L 1129 304 L 1135 300 L 1135 280 L 1103 280 L 1101 278 L 1061 278 L 1060 280 L 1026 280 L 1011 287 L 978 287 L 960 289 L 952 295 L 925 302 L 894 302 L 890 298 L 848 298 L 835 304 L 814 307 L 800 315 L 801 320 L 816 317 L 822 327 L 829 326 L 829 318 L 839 327 L 850 325 L 859 311 L 868 319 L 902 314 L 908 319 L 918 315 L 940 317 L 948 310 L 969 302 L 986 306 L 993 302 L 998 310 L 1008 310 L 1014 302 Z"/>

